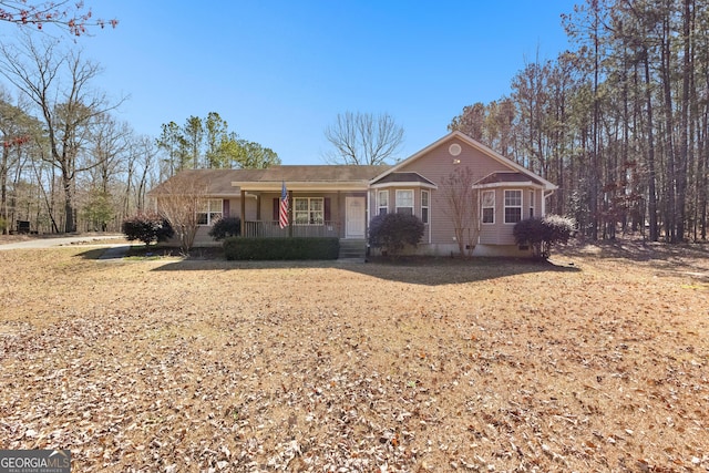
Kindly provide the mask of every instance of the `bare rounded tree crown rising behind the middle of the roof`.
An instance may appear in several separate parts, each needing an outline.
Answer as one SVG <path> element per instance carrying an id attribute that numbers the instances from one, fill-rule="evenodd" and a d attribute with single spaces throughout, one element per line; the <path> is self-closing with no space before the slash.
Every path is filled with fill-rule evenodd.
<path id="1" fill-rule="evenodd" d="M 346 112 L 325 128 L 325 137 L 335 150 L 326 153 L 330 164 L 377 165 L 395 158 L 403 143 L 403 128 L 384 113 Z"/>

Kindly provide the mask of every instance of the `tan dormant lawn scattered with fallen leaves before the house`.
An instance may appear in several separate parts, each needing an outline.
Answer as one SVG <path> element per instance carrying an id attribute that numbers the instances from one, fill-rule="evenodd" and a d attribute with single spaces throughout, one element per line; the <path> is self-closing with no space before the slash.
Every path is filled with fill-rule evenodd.
<path id="1" fill-rule="evenodd" d="M 75 472 L 709 470 L 707 253 L 614 248 L 0 251 L 0 445 Z"/>

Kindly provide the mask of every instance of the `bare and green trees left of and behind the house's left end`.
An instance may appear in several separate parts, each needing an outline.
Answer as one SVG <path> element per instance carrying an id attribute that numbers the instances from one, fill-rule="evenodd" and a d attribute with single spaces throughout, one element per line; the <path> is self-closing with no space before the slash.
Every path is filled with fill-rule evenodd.
<path id="1" fill-rule="evenodd" d="M 263 167 L 278 155 L 242 140 L 217 113 L 163 125 L 160 138 L 117 121 L 122 99 L 95 88 L 76 44 L 19 35 L 0 43 L 0 234 L 117 232 L 146 193 L 185 167 Z"/>

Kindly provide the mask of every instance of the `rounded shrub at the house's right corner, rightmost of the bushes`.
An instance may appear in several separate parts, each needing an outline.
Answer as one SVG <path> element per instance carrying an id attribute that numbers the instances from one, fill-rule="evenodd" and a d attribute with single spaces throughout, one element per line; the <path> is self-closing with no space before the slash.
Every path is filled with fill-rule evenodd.
<path id="1" fill-rule="evenodd" d="M 530 245 L 532 256 L 546 259 L 552 254 L 552 245 L 568 241 L 574 226 L 573 218 L 546 215 L 517 222 L 512 233 L 517 245 Z"/>

